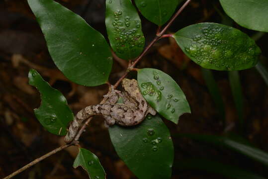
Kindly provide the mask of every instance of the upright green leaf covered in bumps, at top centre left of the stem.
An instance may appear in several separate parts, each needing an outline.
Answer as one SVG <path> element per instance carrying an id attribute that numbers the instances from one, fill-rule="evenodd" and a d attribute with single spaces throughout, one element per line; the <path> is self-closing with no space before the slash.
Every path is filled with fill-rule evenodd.
<path id="1" fill-rule="evenodd" d="M 106 0 L 108 38 L 115 54 L 130 60 L 141 54 L 145 38 L 141 19 L 131 0 Z"/>

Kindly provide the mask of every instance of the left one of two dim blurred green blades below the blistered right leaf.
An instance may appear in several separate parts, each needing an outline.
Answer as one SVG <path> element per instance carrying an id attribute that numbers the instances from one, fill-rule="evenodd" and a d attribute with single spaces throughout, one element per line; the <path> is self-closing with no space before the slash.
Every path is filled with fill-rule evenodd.
<path id="1" fill-rule="evenodd" d="M 207 70 L 204 68 L 201 68 L 201 70 L 202 70 L 202 74 L 203 74 L 203 78 L 205 80 L 206 86 L 207 86 L 207 88 L 208 88 L 217 108 L 218 108 L 220 118 L 224 122 L 225 107 L 224 107 L 224 103 L 223 103 L 223 100 L 221 97 L 220 89 L 218 88 L 218 86 L 216 84 L 216 81 L 213 77 L 211 70 Z"/>

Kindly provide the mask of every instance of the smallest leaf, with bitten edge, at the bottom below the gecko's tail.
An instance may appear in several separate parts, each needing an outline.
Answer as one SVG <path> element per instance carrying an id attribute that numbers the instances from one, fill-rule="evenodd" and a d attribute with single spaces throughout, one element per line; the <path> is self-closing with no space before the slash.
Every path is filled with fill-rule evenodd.
<path id="1" fill-rule="evenodd" d="M 102 168 L 97 156 L 87 149 L 79 148 L 73 167 L 81 166 L 89 174 L 89 179 L 105 179 L 105 171 Z"/>

